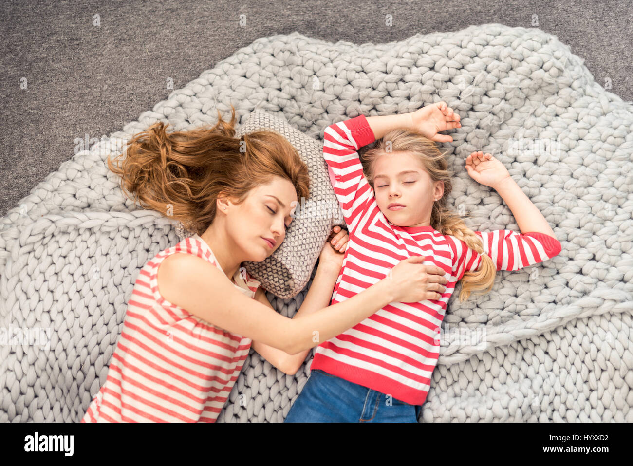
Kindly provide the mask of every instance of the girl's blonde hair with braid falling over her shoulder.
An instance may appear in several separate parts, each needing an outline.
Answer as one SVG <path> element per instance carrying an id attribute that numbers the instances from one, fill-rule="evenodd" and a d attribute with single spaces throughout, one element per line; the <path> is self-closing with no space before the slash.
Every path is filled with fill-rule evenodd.
<path id="1" fill-rule="evenodd" d="M 361 155 L 363 173 L 373 188 L 373 167 L 375 160 L 385 153 L 408 153 L 417 156 L 432 182 L 444 182 L 444 194 L 433 204 L 430 224 L 442 235 L 451 235 L 465 242 L 468 248 L 477 251 L 482 256 L 479 268 L 475 272 L 467 271 L 461 278 L 460 301 L 465 301 L 474 291 L 479 295 L 488 293 L 494 285 L 496 267 L 492 258 L 484 253 L 482 239 L 464 223 L 446 199 L 453 189 L 451 178 L 454 173 L 448 167 L 446 153 L 441 153 L 434 141 L 412 130 L 398 128 L 389 131 L 382 139 L 375 142 L 375 146 Z M 464 217 L 470 217 L 465 215 Z"/>

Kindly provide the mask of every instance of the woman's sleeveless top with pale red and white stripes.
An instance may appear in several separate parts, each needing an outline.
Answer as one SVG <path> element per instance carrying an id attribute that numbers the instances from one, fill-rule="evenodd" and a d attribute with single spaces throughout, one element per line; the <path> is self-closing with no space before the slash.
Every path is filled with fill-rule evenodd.
<path id="1" fill-rule="evenodd" d="M 144 265 L 108 377 L 81 422 L 215 422 L 225 405 L 251 339 L 215 327 L 161 296 L 158 266 L 176 253 L 198 256 L 222 270 L 197 234 Z M 254 298 L 258 280 L 244 268 L 233 278 L 237 289 Z"/>

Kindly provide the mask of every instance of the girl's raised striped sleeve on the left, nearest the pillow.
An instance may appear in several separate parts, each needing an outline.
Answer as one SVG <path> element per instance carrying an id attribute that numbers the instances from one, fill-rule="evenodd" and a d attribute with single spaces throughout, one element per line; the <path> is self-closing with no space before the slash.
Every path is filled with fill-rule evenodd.
<path id="1" fill-rule="evenodd" d="M 374 199 L 358 157 L 358 149 L 373 141 L 365 115 L 333 123 L 323 133 L 323 158 L 350 233 Z"/>

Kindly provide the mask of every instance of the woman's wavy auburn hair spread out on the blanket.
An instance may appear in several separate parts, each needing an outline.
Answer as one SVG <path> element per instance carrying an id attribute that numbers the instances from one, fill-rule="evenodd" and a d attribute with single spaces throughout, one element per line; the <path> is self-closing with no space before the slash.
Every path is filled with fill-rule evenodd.
<path id="1" fill-rule="evenodd" d="M 298 199 L 307 199 L 308 167 L 292 144 L 273 131 L 236 138 L 234 123 L 233 106 L 230 122 L 218 111 L 213 128 L 168 133 L 168 125 L 156 122 L 127 142 L 121 164 L 116 159 L 123 153 L 116 165 L 108 158 L 108 168 L 121 176 L 128 198 L 197 234 L 215 220 L 221 192 L 241 204 L 251 189 L 281 177 L 292 183 Z"/>

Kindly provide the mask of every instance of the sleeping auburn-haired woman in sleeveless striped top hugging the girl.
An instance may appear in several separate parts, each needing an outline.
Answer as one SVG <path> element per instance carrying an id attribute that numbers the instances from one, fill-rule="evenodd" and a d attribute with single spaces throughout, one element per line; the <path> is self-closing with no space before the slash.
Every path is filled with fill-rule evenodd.
<path id="1" fill-rule="evenodd" d="M 251 347 L 294 374 L 319 341 L 391 301 L 428 297 L 429 280 L 444 280 L 420 258 L 403 260 L 391 279 L 329 306 L 342 253 L 326 243 L 294 318 L 275 312 L 241 263 L 265 260 L 284 241 L 297 199 L 308 198 L 308 168 L 279 134 L 234 138 L 234 121 L 232 109 L 228 125 L 220 117 L 211 130 L 172 134 L 159 122 L 132 139 L 122 169 L 108 160 L 144 208 L 196 234 L 141 269 L 106 381 L 82 422 L 214 422 Z M 344 251 L 346 232 L 334 233 Z"/>

